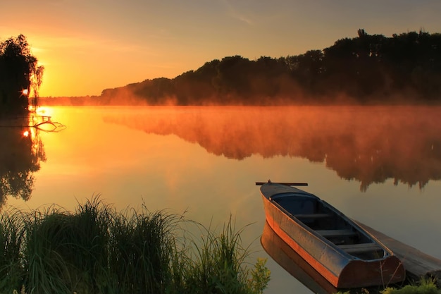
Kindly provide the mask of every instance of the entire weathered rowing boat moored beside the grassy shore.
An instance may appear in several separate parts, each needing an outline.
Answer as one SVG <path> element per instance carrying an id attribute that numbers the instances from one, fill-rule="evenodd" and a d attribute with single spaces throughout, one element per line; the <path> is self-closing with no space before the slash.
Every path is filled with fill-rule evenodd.
<path id="1" fill-rule="evenodd" d="M 394 253 L 327 202 L 286 184 L 256 185 L 268 225 L 336 288 L 404 281 L 404 266 Z"/>

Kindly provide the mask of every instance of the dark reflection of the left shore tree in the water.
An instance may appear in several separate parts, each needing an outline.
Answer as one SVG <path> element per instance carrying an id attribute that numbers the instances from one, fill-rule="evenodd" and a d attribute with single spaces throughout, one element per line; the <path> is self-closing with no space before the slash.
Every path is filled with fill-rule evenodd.
<path id="1" fill-rule="evenodd" d="M 29 119 L 0 121 L 0 207 L 9 196 L 29 200 L 34 173 L 46 161 L 39 129 L 30 127 Z"/>

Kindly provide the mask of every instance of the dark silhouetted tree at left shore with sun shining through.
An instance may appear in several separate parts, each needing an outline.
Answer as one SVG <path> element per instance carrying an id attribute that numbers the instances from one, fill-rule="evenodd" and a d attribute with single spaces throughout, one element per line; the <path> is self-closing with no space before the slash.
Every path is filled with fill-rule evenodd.
<path id="1" fill-rule="evenodd" d="M 27 112 L 28 97 L 38 97 L 43 71 L 24 35 L 0 43 L 0 116 Z"/>

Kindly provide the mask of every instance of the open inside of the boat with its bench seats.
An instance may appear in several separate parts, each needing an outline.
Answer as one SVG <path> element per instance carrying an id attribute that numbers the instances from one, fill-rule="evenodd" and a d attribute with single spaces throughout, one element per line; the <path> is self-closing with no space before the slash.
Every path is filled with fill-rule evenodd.
<path id="1" fill-rule="evenodd" d="M 282 210 L 328 242 L 359 259 L 381 259 L 387 252 L 337 209 L 315 196 L 272 197 Z"/>

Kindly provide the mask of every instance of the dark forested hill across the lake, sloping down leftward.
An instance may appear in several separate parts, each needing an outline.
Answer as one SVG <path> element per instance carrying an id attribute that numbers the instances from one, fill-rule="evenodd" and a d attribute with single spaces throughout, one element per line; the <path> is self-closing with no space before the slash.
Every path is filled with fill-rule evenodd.
<path id="1" fill-rule="evenodd" d="M 228 56 L 173 79 L 144 80 L 106 89 L 98 97 L 67 100 L 106 105 L 438 104 L 441 34 L 385 37 L 360 29 L 358 37 L 339 39 L 323 50 L 254 61 Z"/>

